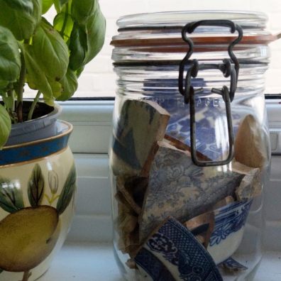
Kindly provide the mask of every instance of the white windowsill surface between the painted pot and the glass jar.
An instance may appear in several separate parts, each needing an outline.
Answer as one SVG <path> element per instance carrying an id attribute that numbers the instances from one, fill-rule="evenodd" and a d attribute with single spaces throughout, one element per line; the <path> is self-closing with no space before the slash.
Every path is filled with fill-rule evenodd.
<path id="1" fill-rule="evenodd" d="M 111 244 L 66 243 L 40 281 L 123 281 Z"/>

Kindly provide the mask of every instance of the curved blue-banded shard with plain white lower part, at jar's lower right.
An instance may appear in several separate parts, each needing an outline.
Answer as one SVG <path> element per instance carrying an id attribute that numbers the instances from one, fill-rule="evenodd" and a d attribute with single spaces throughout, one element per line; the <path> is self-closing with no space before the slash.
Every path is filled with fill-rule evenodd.
<path id="1" fill-rule="evenodd" d="M 207 250 L 216 264 L 233 255 L 241 244 L 252 202 L 253 200 L 233 202 L 214 211 L 214 231 Z"/>

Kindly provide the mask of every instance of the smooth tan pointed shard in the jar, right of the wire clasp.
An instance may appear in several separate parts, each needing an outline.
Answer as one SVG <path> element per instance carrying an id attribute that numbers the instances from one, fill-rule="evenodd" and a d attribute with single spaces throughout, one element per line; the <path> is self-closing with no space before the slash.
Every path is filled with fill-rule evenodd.
<path id="1" fill-rule="evenodd" d="M 262 169 L 270 158 L 268 133 L 251 114 L 241 121 L 234 144 L 235 159 L 248 167 Z"/>

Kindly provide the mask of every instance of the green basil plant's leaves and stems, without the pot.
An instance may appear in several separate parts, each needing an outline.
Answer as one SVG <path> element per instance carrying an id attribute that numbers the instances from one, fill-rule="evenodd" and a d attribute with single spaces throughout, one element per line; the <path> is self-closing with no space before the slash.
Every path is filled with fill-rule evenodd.
<path id="1" fill-rule="evenodd" d="M 55 7 L 53 23 L 44 14 Z M 104 44 L 106 21 L 98 0 L 0 0 L 0 148 L 11 124 L 32 119 L 46 104 L 70 99 L 84 65 Z M 23 88 L 36 89 L 23 116 Z"/>

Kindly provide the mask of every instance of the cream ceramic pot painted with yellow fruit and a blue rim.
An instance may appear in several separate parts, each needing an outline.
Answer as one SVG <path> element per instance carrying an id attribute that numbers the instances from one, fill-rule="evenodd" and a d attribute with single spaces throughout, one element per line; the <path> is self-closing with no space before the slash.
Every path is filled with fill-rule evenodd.
<path id="1" fill-rule="evenodd" d="M 72 125 L 57 122 L 57 136 L 0 151 L 0 281 L 38 279 L 70 228 L 76 189 L 67 145 Z"/>

